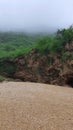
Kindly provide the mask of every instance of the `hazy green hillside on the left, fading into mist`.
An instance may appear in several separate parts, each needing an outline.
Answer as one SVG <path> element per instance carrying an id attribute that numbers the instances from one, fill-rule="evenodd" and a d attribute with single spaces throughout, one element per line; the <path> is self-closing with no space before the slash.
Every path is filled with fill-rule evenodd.
<path id="1" fill-rule="evenodd" d="M 24 33 L 0 33 L 0 58 L 16 57 L 28 53 L 35 39 Z"/>

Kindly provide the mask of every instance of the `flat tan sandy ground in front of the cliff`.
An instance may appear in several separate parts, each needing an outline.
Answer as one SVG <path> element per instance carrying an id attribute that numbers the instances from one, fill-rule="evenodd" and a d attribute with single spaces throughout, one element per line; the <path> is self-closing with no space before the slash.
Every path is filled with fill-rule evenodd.
<path id="1" fill-rule="evenodd" d="M 0 130 L 73 130 L 73 88 L 0 83 Z"/>

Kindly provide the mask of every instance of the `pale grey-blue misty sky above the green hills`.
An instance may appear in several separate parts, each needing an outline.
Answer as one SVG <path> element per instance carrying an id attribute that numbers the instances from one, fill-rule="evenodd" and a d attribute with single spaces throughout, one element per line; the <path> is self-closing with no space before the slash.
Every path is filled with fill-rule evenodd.
<path id="1" fill-rule="evenodd" d="M 0 0 L 0 31 L 49 31 L 73 24 L 73 0 Z"/>

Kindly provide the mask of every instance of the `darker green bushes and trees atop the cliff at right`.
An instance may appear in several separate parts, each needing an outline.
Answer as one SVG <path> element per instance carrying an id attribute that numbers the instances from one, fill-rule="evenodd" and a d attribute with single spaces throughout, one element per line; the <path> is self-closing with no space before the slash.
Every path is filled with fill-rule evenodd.
<path id="1" fill-rule="evenodd" d="M 65 53 L 65 45 L 73 41 L 73 27 L 58 30 L 54 36 L 46 36 L 37 41 L 36 48 L 40 53 Z M 73 48 L 72 48 L 73 51 Z"/>

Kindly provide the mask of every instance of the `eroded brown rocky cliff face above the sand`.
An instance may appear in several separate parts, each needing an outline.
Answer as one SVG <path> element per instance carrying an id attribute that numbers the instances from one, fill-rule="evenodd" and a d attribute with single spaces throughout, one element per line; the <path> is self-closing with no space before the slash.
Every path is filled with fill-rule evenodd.
<path id="1" fill-rule="evenodd" d="M 73 43 L 72 43 L 73 44 Z M 7 60 L 15 71 L 8 76 L 21 81 L 41 82 L 54 85 L 70 85 L 73 87 L 73 47 L 67 49 L 69 58 L 62 61 L 60 54 L 41 55 L 38 50 L 32 50 L 28 55 L 22 55 L 15 60 Z M 5 64 L 7 64 L 5 63 Z"/>

